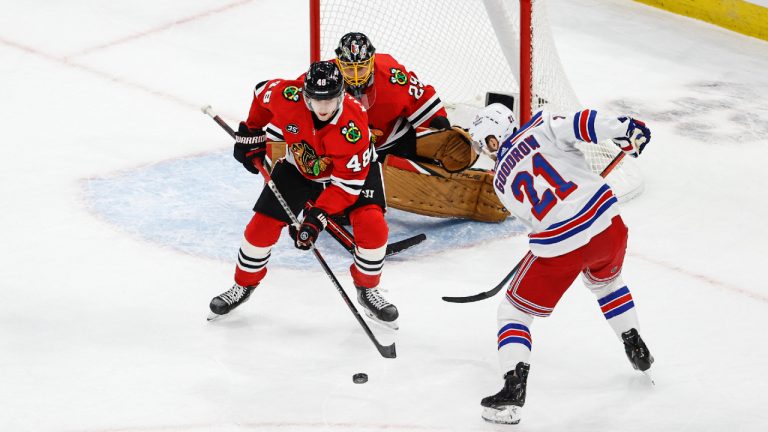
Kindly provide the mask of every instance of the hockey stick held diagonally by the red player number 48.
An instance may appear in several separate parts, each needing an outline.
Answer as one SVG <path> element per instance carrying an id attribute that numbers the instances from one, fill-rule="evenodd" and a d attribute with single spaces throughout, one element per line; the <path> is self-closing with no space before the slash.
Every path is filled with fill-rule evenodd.
<path id="1" fill-rule="evenodd" d="M 213 120 L 216 121 L 221 127 L 226 129 L 227 131 L 232 131 L 232 128 L 229 127 L 229 125 L 221 119 L 218 115 L 214 114 L 210 106 L 203 107 L 203 112 L 208 114 Z M 232 131 L 234 134 L 234 131 Z M 285 213 L 288 215 L 288 217 L 291 218 L 291 222 L 293 225 L 298 228 L 301 223 L 299 223 L 299 220 L 296 218 L 296 215 L 293 214 L 291 211 L 291 208 L 288 206 L 288 203 L 285 201 L 285 198 L 283 198 L 283 195 L 280 193 L 280 191 L 277 190 L 277 185 L 275 185 L 275 182 L 272 181 L 272 177 L 269 175 L 266 169 L 264 169 L 264 166 L 261 164 L 261 161 L 254 160 L 253 161 L 254 166 L 259 170 L 262 176 L 264 176 L 264 181 L 267 184 L 267 187 L 269 187 L 272 190 L 272 193 L 275 195 L 275 198 L 277 198 L 277 201 L 280 202 L 280 205 L 283 207 L 283 210 L 285 210 Z M 378 339 L 376 339 L 376 336 L 374 336 L 373 332 L 371 331 L 371 328 L 368 327 L 368 324 L 365 323 L 365 320 L 363 320 L 363 317 L 360 316 L 360 312 L 357 311 L 357 308 L 352 303 L 352 301 L 349 299 L 349 296 L 347 295 L 346 291 L 344 291 L 344 288 L 342 288 L 341 284 L 339 283 L 339 280 L 336 279 L 336 275 L 333 274 L 331 271 L 331 268 L 328 267 L 328 263 L 325 262 L 325 259 L 323 259 L 323 256 L 320 255 L 320 251 L 317 250 L 314 243 L 310 243 L 310 249 L 312 249 L 312 253 L 315 254 L 315 258 L 317 258 L 317 261 L 320 263 L 320 266 L 323 267 L 323 270 L 325 271 L 325 274 L 328 275 L 328 277 L 331 279 L 331 282 L 333 282 L 333 286 L 336 287 L 336 291 L 341 294 L 341 297 L 344 299 L 344 303 L 347 304 L 347 307 L 349 307 L 349 310 L 352 311 L 352 314 L 355 315 L 355 318 L 357 319 L 357 322 L 360 323 L 360 325 L 363 327 L 363 330 L 365 330 L 365 334 L 368 335 L 368 339 L 373 342 L 374 345 L 376 345 L 376 349 L 379 350 L 379 353 L 382 355 L 382 357 L 385 358 L 395 358 L 397 357 L 397 353 L 395 352 L 395 344 L 391 345 L 382 345 Z"/>

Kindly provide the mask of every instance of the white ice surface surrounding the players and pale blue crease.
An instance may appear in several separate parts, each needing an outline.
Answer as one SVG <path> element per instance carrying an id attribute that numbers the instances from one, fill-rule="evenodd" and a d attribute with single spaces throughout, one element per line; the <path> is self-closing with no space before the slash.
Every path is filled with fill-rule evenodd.
<path id="1" fill-rule="evenodd" d="M 242 310 L 206 323 L 233 264 L 116 226 L 84 185 L 227 151 L 199 106 L 234 122 L 253 84 L 305 69 L 306 2 L 5 0 L 0 431 L 766 430 L 768 43 L 629 1 L 553 3 L 582 102 L 653 130 L 645 192 L 622 209 L 656 387 L 576 282 L 532 328 L 522 423 L 480 419 L 501 385 L 500 297 L 440 296 L 495 285 L 522 235 L 390 262 L 401 329 L 374 331 L 395 360 L 311 260 L 275 266 Z"/>

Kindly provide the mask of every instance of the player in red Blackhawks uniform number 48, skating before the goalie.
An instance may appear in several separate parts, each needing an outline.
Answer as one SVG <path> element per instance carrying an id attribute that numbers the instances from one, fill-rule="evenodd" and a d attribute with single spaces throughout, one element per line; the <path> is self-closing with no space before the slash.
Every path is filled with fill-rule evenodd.
<path id="1" fill-rule="evenodd" d="M 304 80 L 273 79 L 256 85 L 248 119 L 235 134 L 234 157 L 258 174 L 271 124 L 283 131 L 288 151 L 275 163 L 272 180 L 291 210 L 299 214 L 308 201 L 301 226 L 291 227 L 295 246 L 308 250 L 330 215 L 346 215 L 357 247 L 350 267 L 358 302 L 370 318 L 397 328 L 397 308 L 378 290 L 386 253 L 381 168 L 375 161 L 365 108 L 344 92 L 333 62 L 313 63 Z M 245 302 L 267 274 L 272 246 L 290 218 L 269 188 L 254 206 L 238 253 L 235 284 L 211 300 L 212 318 Z"/>

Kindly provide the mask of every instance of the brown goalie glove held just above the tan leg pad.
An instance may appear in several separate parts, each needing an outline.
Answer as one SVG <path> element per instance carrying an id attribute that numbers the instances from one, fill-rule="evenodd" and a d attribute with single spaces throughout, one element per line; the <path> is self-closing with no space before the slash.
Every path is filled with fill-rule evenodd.
<path id="1" fill-rule="evenodd" d="M 450 173 L 471 167 L 478 157 L 477 152 L 472 148 L 472 138 L 460 127 L 418 131 L 416 155 L 439 162 Z"/>

